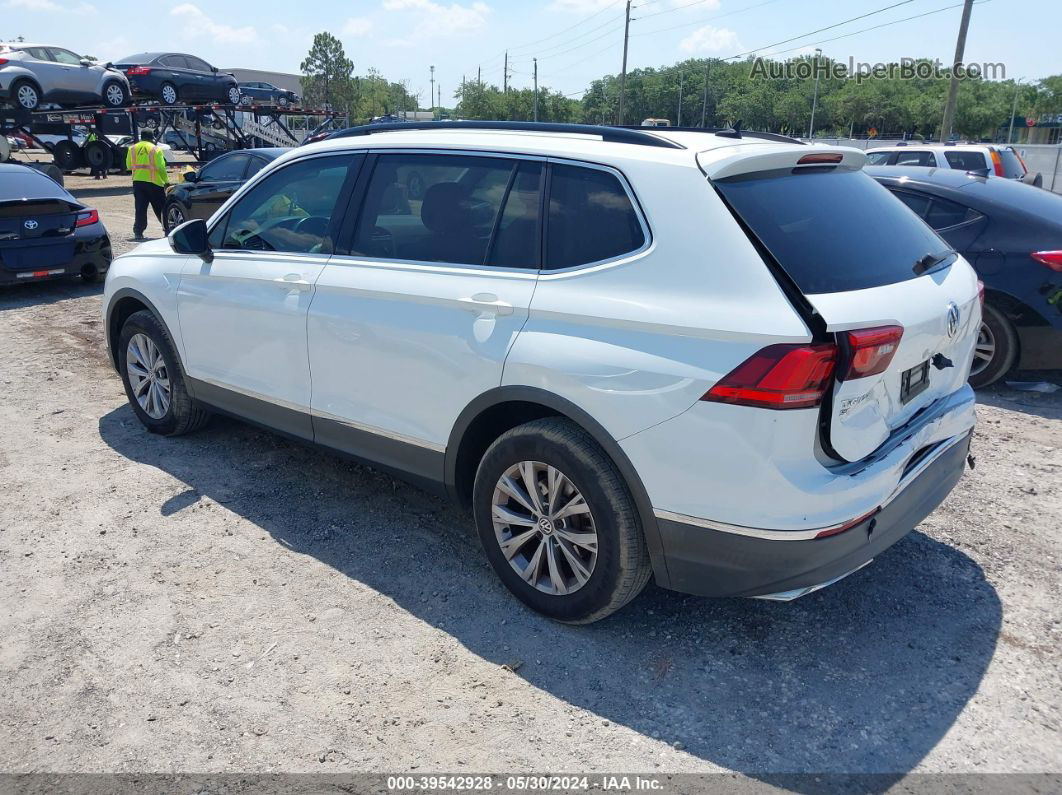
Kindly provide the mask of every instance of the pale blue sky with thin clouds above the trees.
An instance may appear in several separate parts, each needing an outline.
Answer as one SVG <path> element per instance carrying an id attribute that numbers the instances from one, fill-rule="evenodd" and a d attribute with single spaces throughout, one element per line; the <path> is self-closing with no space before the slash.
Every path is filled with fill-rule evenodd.
<path id="1" fill-rule="evenodd" d="M 423 106 L 434 66 L 443 104 L 451 105 L 462 76 L 473 80 L 477 69 L 484 82 L 501 84 L 507 49 L 511 85 L 531 85 L 537 57 L 539 85 L 580 97 L 595 77 L 619 72 L 623 6 L 624 0 L 0 0 L 0 39 L 21 35 L 101 62 L 174 50 L 221 68 L 297 73 L 313 34 L 328 31 L 356 73 L 375 68 L 408 81 Z M 895 7 L 879 12 L 886 6 Z M 816 47 L 844 62 L 949 63 L 962 11 L 961 0 L 634 0 L 632 8 L 632 69 L 749 52 L 785 58 Z M 833 27 L 860 15 L 868 16 Z M 1008 77 L 1026 81 L 1062 73 L 1060 31 L 1060 0 L 980 0 L 965 61 L 1003 63 Z"/>

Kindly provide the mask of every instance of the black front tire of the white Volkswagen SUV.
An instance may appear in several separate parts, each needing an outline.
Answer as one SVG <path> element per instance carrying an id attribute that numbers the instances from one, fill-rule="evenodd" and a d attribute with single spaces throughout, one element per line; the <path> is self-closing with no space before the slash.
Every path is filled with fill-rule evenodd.
<path id="1" fill-rule="evenodd" d="M 142 364 L 151 365 L 152 361 L 156 361 L 149 352 L 151 346 L 154 346 L 155 352 L 161 357 L 161 363 L 156 365 L 154 371 L 156 385 L 160 385 L 164 379 L 169 385 L 165 411 L 159 410 L 161 400 L 157 402 L 149 400 L 147 409 L 152 409 L 152 412 L 149 413 L 134 395 L 134 386 L 130 380 L 130 349 L 131 341 L 134 338 L 137 340 L 141 356 L 148 360 Z M 144 338 L 151 345 L 141 345 Z M 118 369 L 121 373 L 122 384 L 125 386 L 125 397 L 133 408 L 133 413 L 151 433 L 162 436 L 181 436 L 199 430 L 209 421 L 210 414 L 201 409 L 188 395 L 184 371 L 181 368 L 173 341 L 151 312 L 147 310 L 134 312 L 122 326 L 118 338 Z M 149 383 L 145 388 L 150 392 L 152 387 L 153 384 Z M 147 395 L 148 392 L 144 394 Z M 153 416 L 153 414 L 157 416 Z"/>

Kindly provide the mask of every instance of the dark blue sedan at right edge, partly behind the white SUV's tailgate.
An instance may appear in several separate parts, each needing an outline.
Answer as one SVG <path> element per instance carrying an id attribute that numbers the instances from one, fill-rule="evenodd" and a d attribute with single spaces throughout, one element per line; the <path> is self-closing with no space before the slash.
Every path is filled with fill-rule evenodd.
<path id="1" fill-rule="evenodd" d="M 984 282 L 970 382 L 1062 368 L 1062 196 L 949 169 L 868 167 Z"/>

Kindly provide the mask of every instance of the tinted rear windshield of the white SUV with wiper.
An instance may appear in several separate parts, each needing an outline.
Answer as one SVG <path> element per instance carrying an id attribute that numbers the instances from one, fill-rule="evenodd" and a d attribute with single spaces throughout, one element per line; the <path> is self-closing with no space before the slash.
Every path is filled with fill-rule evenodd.
<path id="1" fill-rule="evenodd" d="M 715 186 L 805 294 L 912 279 L 919 259 L 948 248 L 861 171 L 786 169 Z"/>

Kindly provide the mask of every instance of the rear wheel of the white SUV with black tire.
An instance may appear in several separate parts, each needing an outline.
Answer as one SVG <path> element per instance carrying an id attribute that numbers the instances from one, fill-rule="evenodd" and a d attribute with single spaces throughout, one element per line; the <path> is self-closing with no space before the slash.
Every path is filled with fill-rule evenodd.
<path id="1" fill-rule="evenodd" d="M 520 492 L 523 503 L 499 488 L 503 476 L 527 483 L 515 472 L 529 463 L 535 467 L 531 476 L 539 487 L 539 500 L 549 499 L 549 468 L 567 481 L 556 481 L 561 496 L 555 502 L 564 502 L 565 506 L 558 509 L 555 504 L 543 505 L 550 512 L 548 519 L 521 506 L 530 498 L 526 486 Z M 556 516 L 580 496 L 585 511 Z M 496 528 L 496 501 L 510 516 L 515 513 L 527 521 L 502 521 Z M 571 624 L 598 621 L 634 599 L 649 582 L 649 552 L 622 476 L 594 438 L 569 419 L 537 419 L 495 439 L 476 472 L 473 511 L 483 550 L 498 577 L 524 604 L 549 618 Z M 528 540 L 510 545 L 507 556 L 502 543 L 521 534 Z M 593 550 L 571 542 L 576 534 L 593 538 Z M 553 567 L 549 565 L 550 549 Z M 582 566 L 582 576 L 570 563 L 572 553 Z M 525 578 L 514 567 L 525 572 L 532 567 L 535 570 Z"/>

